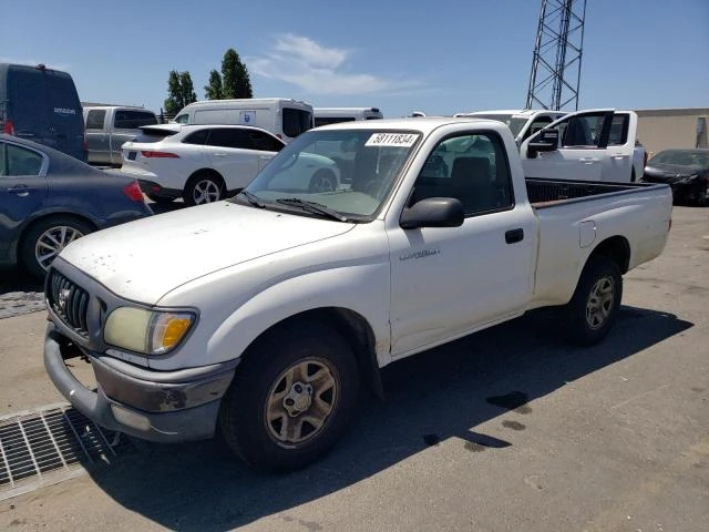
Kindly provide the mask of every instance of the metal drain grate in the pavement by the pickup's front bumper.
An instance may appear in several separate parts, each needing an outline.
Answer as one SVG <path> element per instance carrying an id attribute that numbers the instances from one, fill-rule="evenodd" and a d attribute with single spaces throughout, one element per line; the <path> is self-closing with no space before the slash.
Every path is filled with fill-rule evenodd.
<path id="1" fill-rule="evenodd" d="M 119 436 L 69 405 L 0 418 L 0 501 L 111 463 Z"/>

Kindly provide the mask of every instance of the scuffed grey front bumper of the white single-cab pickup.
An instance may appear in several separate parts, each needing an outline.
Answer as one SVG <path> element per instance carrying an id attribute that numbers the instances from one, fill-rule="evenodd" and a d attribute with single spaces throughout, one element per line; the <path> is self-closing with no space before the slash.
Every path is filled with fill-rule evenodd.
<path id="1" fill-rule="evenodd" d="M 86 356 L 97 389 L 84 387 L 65 359 Z M 220 399 L 238 360 L 176 371 L 155 371 L 101 354 L 79 350 L 50 323 L 44 367 L 76 410 L 110 430 L 144 440 L 181 442 L 212 438 Z"/>

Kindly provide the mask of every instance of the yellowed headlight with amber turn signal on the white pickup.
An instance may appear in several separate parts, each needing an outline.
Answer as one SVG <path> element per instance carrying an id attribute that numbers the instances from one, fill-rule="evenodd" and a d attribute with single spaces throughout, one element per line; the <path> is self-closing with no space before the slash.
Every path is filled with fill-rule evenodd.
<path id="1" fill-rule="evenodd" d="M 192 313 L 119 307 L 109 315 L 103 340 L 145 355 L 164 355 L 179 344 L 194 323 Z"/>

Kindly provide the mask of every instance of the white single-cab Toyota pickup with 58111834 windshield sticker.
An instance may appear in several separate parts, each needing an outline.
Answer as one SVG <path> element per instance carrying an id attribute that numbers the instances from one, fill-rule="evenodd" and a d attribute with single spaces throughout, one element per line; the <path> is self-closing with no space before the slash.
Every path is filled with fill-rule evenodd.
<path id="1" fill-rule="evenodd" d="M 304 154 L 337 150 L 351 183 L 289 181 Z M 299 468 L 394 360 L 544 306 L 571 339 L 600 340 L 621 275 L 661 253 L 670 215 L 667 185 L 525 180 L 500 122 L 319 127 L 233 200 L 68 246 L 45 284 L 44 364 L 104 427 L 167 442 L 218 423 L 248 463 Z"/>

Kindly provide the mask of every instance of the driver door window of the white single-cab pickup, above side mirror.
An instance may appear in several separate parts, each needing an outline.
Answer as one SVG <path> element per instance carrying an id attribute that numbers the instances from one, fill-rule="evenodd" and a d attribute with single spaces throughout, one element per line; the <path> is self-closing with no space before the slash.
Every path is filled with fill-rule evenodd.
<path id="1" fill-rule="evenodd" d="M 500 139 L 467 134 L 439 143 L 417 178 L 410 204 L 425 197 L 455 197 L 466 216 L 511 207 L 510 167 Z"/>

